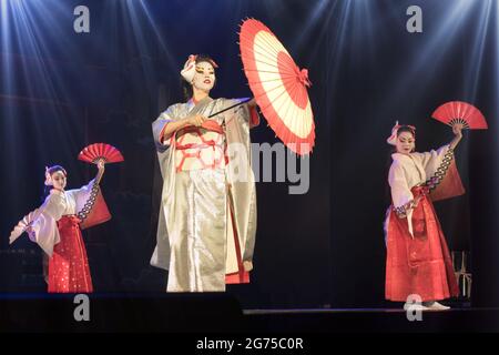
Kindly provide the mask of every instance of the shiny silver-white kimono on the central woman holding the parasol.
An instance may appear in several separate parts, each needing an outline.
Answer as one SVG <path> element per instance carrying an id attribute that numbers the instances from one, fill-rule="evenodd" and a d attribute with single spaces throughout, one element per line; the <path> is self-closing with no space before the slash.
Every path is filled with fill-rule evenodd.
<path id="1" fill-rule="evenodd" d="M 162 132 L 169 122 L 194 114 L 208 116 L 237 102 L 240 100 L 206 98 L 195 105 L 191 101 L 173 104 L 153 123 L 164 182 L 157 243 L 151 264 L 169 270 L 169 292 L 224 291 L 226 274 L 241 271 L 240 262 L 252 265 L 256 193 L 249 165 L 252 121 L 247 105 L 242 104 L 211 119 L 225 128 L 222 141 L 228 148 L 228 165 L 195 169 L 192 164 L 192 169 L 179 171 L 182 164 L 175 136 L 162 141 Z M 221 143 L 216 136 L 213 139 L 216 144 Z M 183 140 L 180 143 L 183 144 Z M 236 152 L 238 154 L 231 154 L 231 144 L 242 148 Z M 208 161 L 218 160 L 217 150 L 213 146 L 213 154 L 206 156 Z M 234 179 L 232 166 L 237 166 L 238 178 L 242 174 L 244 179 Z"/>

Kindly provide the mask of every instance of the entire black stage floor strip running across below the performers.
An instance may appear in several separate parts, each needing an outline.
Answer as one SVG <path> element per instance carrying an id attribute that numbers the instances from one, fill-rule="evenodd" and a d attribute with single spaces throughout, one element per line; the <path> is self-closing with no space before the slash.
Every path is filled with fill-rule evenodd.
<path id="1" fill-rule="evenodd" d="M 83 308 L 85 304 L 88 308 Z M 89 320 L 78 321 L 84 312 Z M 74 295 L 0 295 L 0 332 L 8 333 L 499 332 L 499 308 L 454 307 L 425 311 L 420 321 L 409 318 L 401 307 L 243 310 L 226 294 L 92 294 L 86 301 Z"/>

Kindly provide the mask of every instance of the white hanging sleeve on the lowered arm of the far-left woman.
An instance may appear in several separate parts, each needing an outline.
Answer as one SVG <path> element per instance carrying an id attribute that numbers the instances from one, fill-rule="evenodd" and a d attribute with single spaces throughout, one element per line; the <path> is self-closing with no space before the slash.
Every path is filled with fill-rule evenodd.
<path id="1" fill-rule="evenodd" d="M 61 240 L 57 221 L 65 210 L 64 195 L 52 190 L 39 209 L 39 215 L 31 224 L 30 239 L 35 242 L 47 255 L 52 256 L 53 246 Z"/>

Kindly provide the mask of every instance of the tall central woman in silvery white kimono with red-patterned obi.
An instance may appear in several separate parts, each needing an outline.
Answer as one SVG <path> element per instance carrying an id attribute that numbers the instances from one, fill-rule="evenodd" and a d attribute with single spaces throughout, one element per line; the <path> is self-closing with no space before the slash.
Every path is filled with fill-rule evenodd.
<path id="1" fill-rule="evenodd" d="M 254 101 L 212 99 L 216 63 L 191 55 L 181 75 L 187 102 L 153 123 L 163 191 L 151 264 L 169 270 L 167 292 L 225 291 L 249 282 L 256 194 L 249 128 Z"/>

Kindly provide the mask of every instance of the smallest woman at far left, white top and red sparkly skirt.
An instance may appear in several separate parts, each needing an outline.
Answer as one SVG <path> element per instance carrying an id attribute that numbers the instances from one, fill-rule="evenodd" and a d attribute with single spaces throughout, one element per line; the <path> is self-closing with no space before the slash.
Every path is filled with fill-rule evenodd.
<path id="1" fill-rule="evenodd" d="M 10 243 L 28 232 L 30 240 L 45 253 L 49 293 L 93 292 L 81 229 L 111 219 L 99 189 L 104 162 L 100 161 L 98 166 L 98 176 L 88 185 L 68 191 L 64 190 L 68 176 L 64 168 L 47 168 L 45 201 L 20 221 L 11 234 Z"/>

